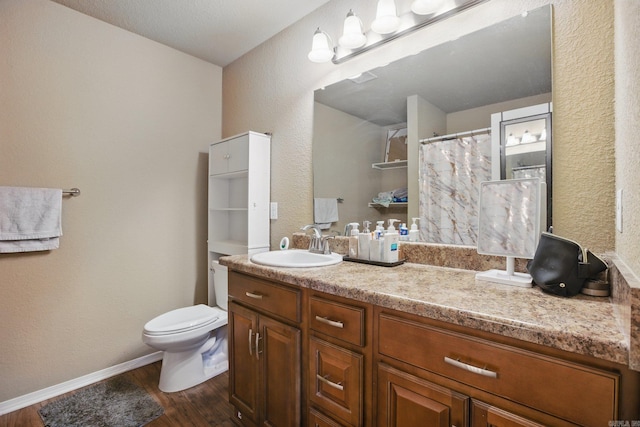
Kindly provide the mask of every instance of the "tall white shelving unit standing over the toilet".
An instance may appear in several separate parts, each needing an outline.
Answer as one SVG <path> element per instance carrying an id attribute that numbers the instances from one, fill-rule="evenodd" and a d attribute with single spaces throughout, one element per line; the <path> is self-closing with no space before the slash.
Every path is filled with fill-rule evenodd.
<path id="1" fill-rule="evenodd" d="M 269 250 L 271 137 L 247 132 L 209 146 L 209 304 L 214 281 L 226 285 L 225 255 Z"/>

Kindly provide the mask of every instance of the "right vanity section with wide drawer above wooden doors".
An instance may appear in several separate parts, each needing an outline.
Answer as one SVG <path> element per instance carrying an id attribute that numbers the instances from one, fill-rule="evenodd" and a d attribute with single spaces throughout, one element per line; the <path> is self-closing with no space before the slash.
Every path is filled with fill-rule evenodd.
<path id="1" fill-rule="evenodd" d="M 416 420 L 428 424 L 426 417 L 438 411 L 443 420 L 447 413 L 460 413 L 453 411 L 447 393 L 467 396 L 469 415 L 456 420 L 448 415 L 452 420 L 442 425 L 606 426 L 617 419 L 620 374 L 614 370 L 381 308 L 376 308 L 375 330 L 379 427 L 409 427 L 418 425 Z M 440 387 L 439 399 L 427 394 L 433 385 Z M 405 393 L 402 400 L 396 389 Z M 396 422 L 393 411 L 409 400 L 404 410 L 417 418 Z"/>

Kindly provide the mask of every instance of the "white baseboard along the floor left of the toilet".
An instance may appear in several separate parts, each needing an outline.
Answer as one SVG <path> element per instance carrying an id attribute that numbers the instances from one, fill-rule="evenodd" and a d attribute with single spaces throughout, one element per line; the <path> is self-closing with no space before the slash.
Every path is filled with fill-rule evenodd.
<path id="1" fill-rule="evenodd" d="M 105 380 L 115 375 L 140 368 L 153 362 L 157 362 L 158 360 L 162 360 L 161 351 L 157 351 L 155 353 L 151 353 L 146 356 L 121 363 L 119 365 L 111 366 L 109 368 L 105 368 L 100 371 L 75 378 L 73 380 L 65 381 L 51 387 L 43 388 L 42 390 L 34 391 L 32 393 L 18 396 L 13 399 L 5 400 L 4 402 L 0 402 L 0 415 L 17 411 L 18 409 L 22 409 L 35 403 L 42 402 L 43 400 L 51 399 L 52 397 L 68 393 L 70 391 L 88 386 L 98 381 Z"/>

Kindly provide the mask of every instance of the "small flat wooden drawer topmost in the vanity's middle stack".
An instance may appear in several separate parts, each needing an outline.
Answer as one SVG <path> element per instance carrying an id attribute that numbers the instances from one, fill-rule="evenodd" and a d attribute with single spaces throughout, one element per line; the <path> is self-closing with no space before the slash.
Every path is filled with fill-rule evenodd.
<path id="1" fill-rule="evenodd" d="M 364 346 L 364 308 L 311 297 L 309 325 L 321 332 L 351 344 Z"/>

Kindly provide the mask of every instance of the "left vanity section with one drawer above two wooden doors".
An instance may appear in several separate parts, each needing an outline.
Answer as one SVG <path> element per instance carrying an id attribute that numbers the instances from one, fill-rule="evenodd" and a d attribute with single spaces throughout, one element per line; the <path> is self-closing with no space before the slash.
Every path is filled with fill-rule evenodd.
<path id="1" fill-rule="evenodd" d="M 229 274 L 229 402 L 243 426 L 298 426 L 300 289 Z"/>

